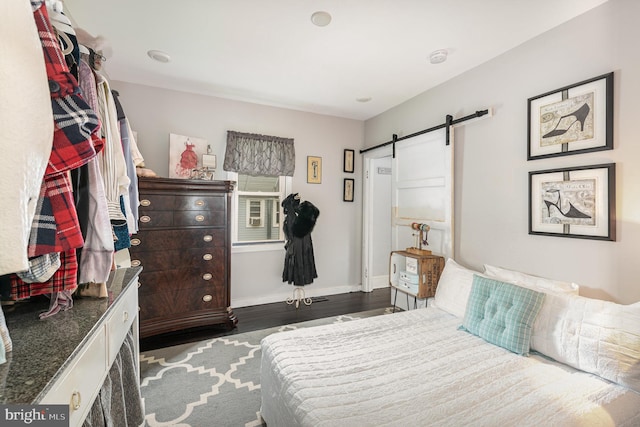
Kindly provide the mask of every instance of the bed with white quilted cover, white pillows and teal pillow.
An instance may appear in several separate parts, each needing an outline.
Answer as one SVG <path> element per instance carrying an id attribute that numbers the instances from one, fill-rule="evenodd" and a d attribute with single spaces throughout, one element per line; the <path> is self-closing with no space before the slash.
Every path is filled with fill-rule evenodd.
<path id="1" fill-rule="evenodd" d="M 488 267 L 448 260 L 426 308 L 263 339 L 266 424 L 640 426 L 640 303 Z"/>

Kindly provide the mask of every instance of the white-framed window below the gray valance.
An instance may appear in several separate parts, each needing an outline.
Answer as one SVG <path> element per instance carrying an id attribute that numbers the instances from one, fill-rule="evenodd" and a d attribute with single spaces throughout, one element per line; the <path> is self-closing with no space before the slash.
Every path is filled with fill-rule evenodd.
<path id="1" fill-rule="evenodd" d="M 234 245 L 284 241 L 280 221 L 282 200 L 289 194 L 291 177 L 233 174 Z"/>

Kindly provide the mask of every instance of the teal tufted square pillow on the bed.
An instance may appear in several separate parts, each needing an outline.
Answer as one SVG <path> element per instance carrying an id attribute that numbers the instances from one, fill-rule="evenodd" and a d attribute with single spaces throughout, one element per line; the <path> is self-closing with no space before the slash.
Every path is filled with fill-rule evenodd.
<path id="1" fill-rule="evenodd" d="M 542 292 L 474 274 L 459 329 L 528 356 L 531 329 L 544 296 Z"/>

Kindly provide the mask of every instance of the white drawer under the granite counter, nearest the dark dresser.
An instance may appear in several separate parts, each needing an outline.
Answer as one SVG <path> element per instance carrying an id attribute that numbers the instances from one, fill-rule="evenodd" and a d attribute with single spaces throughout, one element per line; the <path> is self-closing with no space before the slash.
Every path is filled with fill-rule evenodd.
<path id="1" fill-rule="evenodd" d="M 124 338 L 131 328 L 131 324 L 138 315 L 137 283 L 129 285 L 129 288 L 120 296 L 112 311 L 113 313 L 107 319 L 107 362 L 109 366 L 115 360 Z"/>

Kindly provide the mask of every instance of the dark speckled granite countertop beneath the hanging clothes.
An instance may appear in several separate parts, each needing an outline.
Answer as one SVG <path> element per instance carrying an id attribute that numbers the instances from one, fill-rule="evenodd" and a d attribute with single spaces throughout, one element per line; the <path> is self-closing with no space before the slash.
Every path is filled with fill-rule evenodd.
<path id="1" fill-rule="evenodd" d="M 112 271 L 107 298 L 74 297 L 70 310 L 43 320 L 38 314 L 49 308 L 46 297 L 3 307 L 13 351 L 7 353 L 7 363 L 0 365 L 0 404 L 39 402 L 141 271 L 142 267 Z"/>

